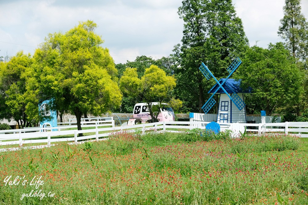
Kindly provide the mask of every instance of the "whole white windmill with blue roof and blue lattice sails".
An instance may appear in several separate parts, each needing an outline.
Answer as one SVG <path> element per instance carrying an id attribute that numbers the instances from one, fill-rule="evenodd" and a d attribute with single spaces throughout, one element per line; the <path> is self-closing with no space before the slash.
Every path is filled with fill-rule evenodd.
<path id="1" fill-rule="evenodd" d="M 206 113 L 216 104 L 215 94 L 220 94 L 219 109 L 217 122 L 246 122 L 246 112 L 243 93 L 250 93 L 250 89 L 243 91 L 240 88 L 241 81 L 230 79 L 229 77 L 241 65 L 242 61 L 237 57 L 227 68 L 229 75 L 219 81 L 214 77 L 211 71 L 202 62 L 199 69 L 207 80 L 214 78 L 216 84 L 210 89 L 209 93 L 213 93 L 208 101 L 203 105 L 202 110 Z M 244 109 L 243 109 L 244 108 Z"/>

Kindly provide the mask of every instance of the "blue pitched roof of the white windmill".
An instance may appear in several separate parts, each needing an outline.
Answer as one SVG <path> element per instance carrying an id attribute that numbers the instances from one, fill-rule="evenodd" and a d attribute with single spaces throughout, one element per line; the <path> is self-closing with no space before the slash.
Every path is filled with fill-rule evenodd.
<path id="1" fill-rule="evenodd" d="M 225 78 L 221 78 L 218 82 L 221 84 Z M 252 88 L 246 90 L 241 89 L 241 80 L 228 79 L 222 87 L 227 91 L 227 93 L 251 93 Z M 219 85 L 216 83 L 208 93 L 214 93 Z M 218 89 L 216 93 L 225 93 L 221 88 Z"/>

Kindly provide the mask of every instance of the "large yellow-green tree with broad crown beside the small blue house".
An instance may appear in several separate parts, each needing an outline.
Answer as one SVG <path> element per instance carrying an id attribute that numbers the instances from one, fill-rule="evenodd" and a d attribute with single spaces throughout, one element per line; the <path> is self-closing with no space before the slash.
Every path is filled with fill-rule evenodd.
<path id="1" fill-rule="evenodd" d="M 81 130 L 82 115 L 99 115 L 120 106 L 117 70 L 92 21 L 80 22 L 65 34 L 49 34 L 35 51 L 29 73 L 29 95 L 36 102 L 55 99 L 51 108 L 71 112 Z M 34 113 L 29 107 L 29 113 Z"/>

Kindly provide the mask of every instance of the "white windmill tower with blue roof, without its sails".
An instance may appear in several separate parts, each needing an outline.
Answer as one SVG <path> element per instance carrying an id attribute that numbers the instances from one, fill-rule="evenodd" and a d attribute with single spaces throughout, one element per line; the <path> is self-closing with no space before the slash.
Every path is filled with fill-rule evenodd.
<path id="1" fill-rule="evenodd" d="M 219 80 L 221 84 L 225 81 L 225 78 Z M 247 90 L 242 90 L 241 80 L 237 81 L 235 79 L 227 79 L 227 81 L 222 85 L 222 87 L 227 91 L 229 96 L 233 93 L 237 93 L 242 101 L 244 101 L 244 94 L 251 93 L 251 88 Z M 218 89 L 219 85 L 216 83 L 208 93 L 214 93 Z M 246 109 L 245 107 L 239 110 L 237 106 L 231 101 L 230 97 L 220 88 L 215 94 L 219 94 L 219 108 L 217 114 L 217 122 L 222 123 L 247 123 L 246 119 Z"/>

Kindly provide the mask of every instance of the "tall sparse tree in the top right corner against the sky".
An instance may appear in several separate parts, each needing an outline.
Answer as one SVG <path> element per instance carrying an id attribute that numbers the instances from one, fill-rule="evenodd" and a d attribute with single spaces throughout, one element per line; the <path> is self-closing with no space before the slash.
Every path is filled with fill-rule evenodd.
<path id="1" fill-rule="evenodd" d="M 308 49 L 308 24 L 301 12 L 301 0 L 285 0 L 284 16 L 278 35 L 286 41 L 294 58 L 305 60 Z"/>

